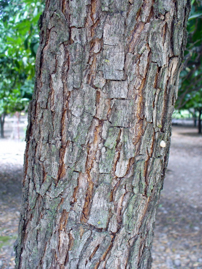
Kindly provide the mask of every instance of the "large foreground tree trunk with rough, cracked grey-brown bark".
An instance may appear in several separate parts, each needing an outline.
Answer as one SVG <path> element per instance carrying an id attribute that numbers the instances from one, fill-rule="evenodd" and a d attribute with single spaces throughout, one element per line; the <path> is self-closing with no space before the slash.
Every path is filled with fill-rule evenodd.
<path id="1" fill-rule="evenodd" d="M 46 1 L 16 269 L 151 268 L 189 10 Z"/>

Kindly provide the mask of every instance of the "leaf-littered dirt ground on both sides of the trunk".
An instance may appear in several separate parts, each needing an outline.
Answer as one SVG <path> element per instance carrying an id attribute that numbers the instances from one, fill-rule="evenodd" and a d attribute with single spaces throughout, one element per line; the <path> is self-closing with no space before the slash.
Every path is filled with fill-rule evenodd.
<path id="1" fill-rule="evenodd" d="M 0 269 L 14 268 L 25 148 L 20 140 L 0 139 Z M 202 136 L 194 128 L 174 126 L 152 269 L 202 269 L 201 175 Z"/>

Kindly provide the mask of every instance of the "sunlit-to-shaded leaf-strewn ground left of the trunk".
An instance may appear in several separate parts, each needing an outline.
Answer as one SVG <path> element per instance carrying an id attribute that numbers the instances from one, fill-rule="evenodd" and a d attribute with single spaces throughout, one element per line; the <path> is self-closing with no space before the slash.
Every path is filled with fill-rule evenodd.
<path id="1" fill-rule="evenodd" d="M 25 142 L 0 139 L 0 268 L 14 268 Z"/>

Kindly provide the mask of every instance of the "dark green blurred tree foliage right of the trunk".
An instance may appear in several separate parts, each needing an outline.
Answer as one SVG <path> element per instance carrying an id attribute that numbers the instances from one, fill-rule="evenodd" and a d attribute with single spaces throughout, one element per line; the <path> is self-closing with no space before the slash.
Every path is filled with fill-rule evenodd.
<path id="1" fill-rule="evenodd" d="M 202 3 L 192 0 L 192 10 L 187 23 L 188 42 L 185 50 L 183 70 L 180 73 L 177 110 L 188 109 L 193 118 L 198 117 L 201 133 L 202 91 Z"/>

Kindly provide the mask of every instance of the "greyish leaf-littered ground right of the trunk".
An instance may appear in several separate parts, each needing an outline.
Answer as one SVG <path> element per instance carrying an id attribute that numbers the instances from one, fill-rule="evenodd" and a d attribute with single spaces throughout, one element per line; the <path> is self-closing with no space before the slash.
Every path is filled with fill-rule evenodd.
<path id="1" fill-rule="evenodd" d="M 161 192 L 152 269 L 202 269 L 202 136 L 173 127 Z"/>

